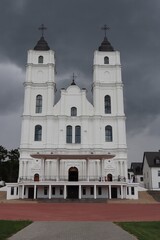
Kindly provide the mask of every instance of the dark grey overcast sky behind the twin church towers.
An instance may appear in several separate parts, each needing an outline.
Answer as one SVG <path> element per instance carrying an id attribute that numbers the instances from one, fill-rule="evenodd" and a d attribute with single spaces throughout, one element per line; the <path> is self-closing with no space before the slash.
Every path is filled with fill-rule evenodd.
<path id="1" fill-rule="evenodd" d="M 159 0 L 0 0 L 0 145 L 19 147 L 27 50 L 39 40 L 42 23 L 56 52 L 58 89 L 71 83 L 74 72 L 88 96 L 101 27 L 110 27 L 107 37 L 121 53 L 129 162 L 158 151 Z"/>

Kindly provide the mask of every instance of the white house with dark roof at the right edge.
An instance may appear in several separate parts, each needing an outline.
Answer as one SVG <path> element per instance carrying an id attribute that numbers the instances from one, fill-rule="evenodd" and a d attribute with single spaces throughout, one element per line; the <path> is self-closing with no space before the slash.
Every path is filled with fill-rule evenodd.
<path id="1" fill-rule="evenodd" d="M 160 190 L 160 152 L 144 152 L 144 187 L 148 190 Z"/>

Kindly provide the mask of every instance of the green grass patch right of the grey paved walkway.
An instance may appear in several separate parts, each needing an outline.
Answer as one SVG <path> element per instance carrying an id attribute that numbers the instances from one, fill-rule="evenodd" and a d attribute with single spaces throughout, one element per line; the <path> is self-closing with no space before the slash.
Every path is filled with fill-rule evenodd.
<path id="1" fill-rule="evenodd" d="M 160 222 L 116 222 L 139 240 L 160 240 Z"/>

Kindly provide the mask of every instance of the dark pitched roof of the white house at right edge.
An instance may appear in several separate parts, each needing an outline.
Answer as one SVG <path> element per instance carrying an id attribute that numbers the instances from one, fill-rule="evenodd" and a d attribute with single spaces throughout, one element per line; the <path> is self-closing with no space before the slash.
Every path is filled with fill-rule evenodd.
<path id="1" fill-rule="evenodd" d="M 160 167 L 160 152 L 144 152 L 144 159 L 146 158 L 149 167 Z"/>

